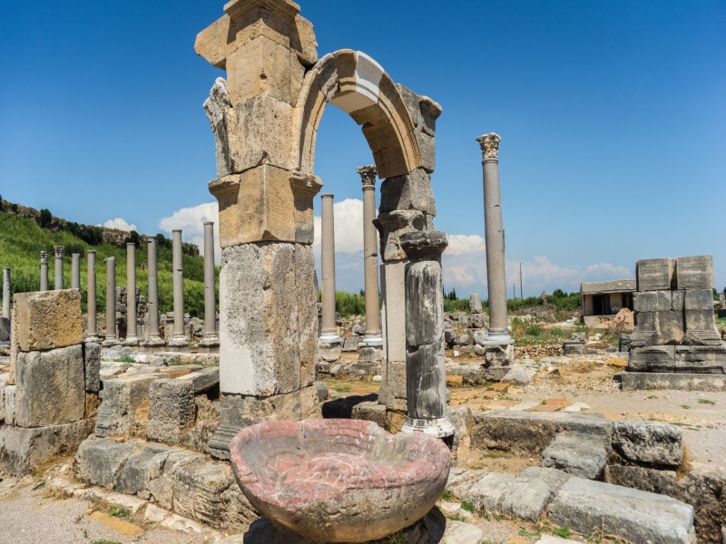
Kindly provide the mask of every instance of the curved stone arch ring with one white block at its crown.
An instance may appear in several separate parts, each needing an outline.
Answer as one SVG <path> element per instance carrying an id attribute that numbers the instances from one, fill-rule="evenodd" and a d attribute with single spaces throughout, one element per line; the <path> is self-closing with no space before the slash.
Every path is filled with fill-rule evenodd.
<path id="1" fill-rule="evenodd" d="M 318 127 L 329 103 L 362 126 L 381 179 L 425 166 L 417 128 L 399 87 L 366 53 L 343 49 L 322 57 L 302 83 L 292 138 L 293 163 L 303 174 L 313 174 Z"/>

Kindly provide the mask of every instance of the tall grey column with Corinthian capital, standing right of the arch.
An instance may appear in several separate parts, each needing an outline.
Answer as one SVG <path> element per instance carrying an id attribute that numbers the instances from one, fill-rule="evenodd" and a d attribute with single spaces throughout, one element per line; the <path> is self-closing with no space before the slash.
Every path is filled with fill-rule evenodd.
<path id="1" fill-rule="evenodd" d="M 499 195 L 499 142 L 491 132 L 479 136 L 484 168 L 484 223 L 486 237 L 486 283 L 489 291 L 489 333 L 487 344 L 508 345 L 506 320 L 505 232 L 502 225 L 502 201 Z"/>

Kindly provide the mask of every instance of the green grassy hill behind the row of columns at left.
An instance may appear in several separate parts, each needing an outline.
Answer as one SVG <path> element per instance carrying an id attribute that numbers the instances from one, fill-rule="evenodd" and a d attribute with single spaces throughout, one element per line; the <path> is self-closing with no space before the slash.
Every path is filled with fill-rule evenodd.
<path id="1" fill-rule="evenodd" d="M 33 219 L 25 219 L 0 212 L 0 267 L 11 268 L 11 285 L 14 293 L 37 291 L 40 288 L 40 252 L 48 252 L 49 285 L 54 284 L 54 246 L 64 246 L 64 286 L 71 285 L 71 254 L 81 257 L 81 298 L 86 309 L 86 277 L 88 263 L 85 255 L 89 249 L 96 251 L 96 285 L 98 312 L 105 311 L 106 265 L 103 259 L 116 257 L 116 287 L 126 285 L 126 249 L 108 243 L 90 246 L 67 230 L 54 232 L 41 228 Z M 158 245 L 159 308 L 162 312 L 173 309 L 172 248 Z M 147 263 L 146 245 L 136 249 L 136 285 L 142 295 L 148 296 L 148 274 L 142 270 Z M 184 310 L 191 316 L 204 317 L 204 258 L 183 256 Z M 217 268 L 217 292 L 219 293 L 219 267 Z M 219 300 L 219 296 L 217 296 Z"/>

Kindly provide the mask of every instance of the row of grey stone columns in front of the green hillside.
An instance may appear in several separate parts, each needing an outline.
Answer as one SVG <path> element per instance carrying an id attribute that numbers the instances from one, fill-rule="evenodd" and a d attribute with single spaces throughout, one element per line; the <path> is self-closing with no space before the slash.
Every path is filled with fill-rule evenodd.
<path id="1" fill-rule="evenodd" d="M 147 238 L 148 244 L 148 272 L 149 272 L 149 340 L 144 344 L 147 347 L 162 347 L 164 341 L 159 330 L 159 283 L 156 238 Z M 172 232 L 172 253 L 173 253 L 173 302 L 174 302 L 174 328 L 172 340 L 169 345 L 179 347 L 188 345 L 184 333 L 184 282 L 182 270 L 182 231 Z M 54 288 L 63 289 L 63 255 L 62 246 L 54 247 L 55 277 Z M 71 288 L 81 287 L 81 256 L 74 253 L 71 264 L 72 282 Z M 98 323 L 96 318 L 96 252 L 88 251 L 88 340 L 98 341 Z M 106 336 L 104 345 L 119 344 L 118 332 L 116 329 L 116 259 L 107 257 L 106 263 Z M 41 251 L 40 254 L 40 290 L 48 290 L 48 254 Z M 3 316 L 7 306 L 7 317 L 10 316 L 10 269 L 5 268 L 3 284 Z M 136 324 L 136 245 L 132 242 L 126 244 L 126 290 L 127 296 L 127 329 L 123 345 L 139 345 L 138 330 Z M 5 296 L 5 291 L 7 295 Z M 217 312 L 216 312 L 216 288 L 214 268 L 214 223 L 204 223 L 204 339 L 201 347 L 219 347 L 219 336 L 217 334 Z M 109 317 L 111 316 L 111 317 Z"/>

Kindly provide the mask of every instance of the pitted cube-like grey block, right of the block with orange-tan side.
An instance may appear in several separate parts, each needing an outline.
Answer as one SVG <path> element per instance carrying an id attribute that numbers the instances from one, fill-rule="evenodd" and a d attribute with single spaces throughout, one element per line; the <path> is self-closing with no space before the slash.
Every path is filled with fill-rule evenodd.
<path id="1" fill-rule="evenodd" d="M 179 443 L 194 426 L 197 409 L 190 380 L 156 380 L 149 386 L 149 440 Z"/>

